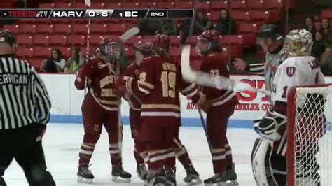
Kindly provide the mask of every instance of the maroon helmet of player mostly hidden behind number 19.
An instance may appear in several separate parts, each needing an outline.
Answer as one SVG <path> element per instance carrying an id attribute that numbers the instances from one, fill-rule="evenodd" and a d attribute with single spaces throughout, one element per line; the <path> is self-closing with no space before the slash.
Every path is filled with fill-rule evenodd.
<path id="1" fill-rule="evenodd" d="M 139 41 L 134 45 L 135 63 L 140 64 L 145 57 L 152 55 L 153 43 L 151 41 Z"/>

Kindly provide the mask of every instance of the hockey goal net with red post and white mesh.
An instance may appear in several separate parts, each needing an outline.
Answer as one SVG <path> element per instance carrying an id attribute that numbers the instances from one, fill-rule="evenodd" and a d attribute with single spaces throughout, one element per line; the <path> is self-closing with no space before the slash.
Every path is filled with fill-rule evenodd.
<path id="1" fill-rule="evenodd" d="M 332 185 L 332 85 L 294 87 L 287 116 L 287 185 Z"/>

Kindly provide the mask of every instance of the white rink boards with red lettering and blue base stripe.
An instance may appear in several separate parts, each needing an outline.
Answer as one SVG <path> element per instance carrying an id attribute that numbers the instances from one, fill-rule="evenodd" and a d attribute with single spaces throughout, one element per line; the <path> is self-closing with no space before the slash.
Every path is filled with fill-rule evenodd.
<path id="1" fill-rule="evenodd" d="M 73 74 L 42 74 L 50 99 L 52 101 L 51 120 L 54 123 L 82 123 L 81 103 L 84 91 L 76 90 Z M 258 89 L 265 89 L 261 76 L 233 75 L 231 78 L 242 80 Z M 326 77 L 326 83 L 332 83 L 332 77 Z M 229 127 L 251 128 L 252 120 L 263 117 L 269 107 L 267 96 L 255 92 L 237 93 L 240 104 L 235 107 L 235 113 L 230 117 Z M 126 101 L 121 104 L 123 123 L 129 123 L 129 106 Z M 181 96 L 181 122 L 184 126 L 200 127 L 198 110 L 191 100 Z"/>

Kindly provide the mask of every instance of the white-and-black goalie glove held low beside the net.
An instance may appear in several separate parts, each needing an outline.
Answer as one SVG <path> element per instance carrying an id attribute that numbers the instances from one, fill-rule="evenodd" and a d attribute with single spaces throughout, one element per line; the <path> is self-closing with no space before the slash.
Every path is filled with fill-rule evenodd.
<path id="1" fill-rule="evenodd" d="M 262 120 L 256 120 L 254 130 L 268 141 L 278 141 L 280 139 L 278 129 L 283 124 L 286 124 L 286 119 L 286 115 L 277 113 L 273 110 L 273 107 L 270 107 Z"/>

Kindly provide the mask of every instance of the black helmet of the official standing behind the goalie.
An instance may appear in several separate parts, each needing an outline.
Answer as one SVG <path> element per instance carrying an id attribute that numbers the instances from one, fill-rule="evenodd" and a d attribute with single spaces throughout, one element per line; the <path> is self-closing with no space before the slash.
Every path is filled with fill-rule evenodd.
<path id="1" fill-rule="evenodd" d="M 259 29 L 257 38 L 271 38 L 273 41 L 283 38 L 282 31 L 275 24 L 265 24 Z"/>

